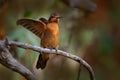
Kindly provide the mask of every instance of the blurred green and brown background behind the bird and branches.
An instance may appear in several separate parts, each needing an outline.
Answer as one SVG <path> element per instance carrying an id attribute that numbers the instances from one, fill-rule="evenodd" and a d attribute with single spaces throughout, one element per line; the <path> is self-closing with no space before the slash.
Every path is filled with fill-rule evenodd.
<path id="1" fill-rule="evenodd" d="M 120 80 L 119 0 L 0 0 L 0 38 L 39 46 L 39 38 L 16 21 L 48 18 L 54 11 L 64 17 L 59 23 L 59 49 L 86 60 L 96 80 Z M 40 80 L 77 79 L 79 64 L 65 57 L 52 55 L 45 70 L 37 70 L 37 52 L 11 47 L 11 53 Z M 0 64 L 0 80 L 25 79 Z M 84 68 L 80 80 L 90 80 Z"/>

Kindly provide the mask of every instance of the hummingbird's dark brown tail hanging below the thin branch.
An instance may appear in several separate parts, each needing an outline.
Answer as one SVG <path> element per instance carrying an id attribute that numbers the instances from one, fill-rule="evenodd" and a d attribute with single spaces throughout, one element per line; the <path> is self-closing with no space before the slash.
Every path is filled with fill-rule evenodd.
<path id="1" fill-rule="evenodd" d="M 44 69 L 47 64 L 48 59 L 49 59 L 49 54 L 40 54 L 37 64 L 36 64 L 36 68 Z"/>

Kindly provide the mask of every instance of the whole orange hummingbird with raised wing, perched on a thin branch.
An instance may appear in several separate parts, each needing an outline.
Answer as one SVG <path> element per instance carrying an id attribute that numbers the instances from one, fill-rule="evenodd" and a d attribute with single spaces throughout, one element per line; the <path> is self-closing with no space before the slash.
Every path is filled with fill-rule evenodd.
<path id="1" fill-rule="evenodd" d="M 17 25 L 22 25 L 37 35 L 41 39 L 41 47 L 57 49 L 59 44 L 58 23 L 60 18 L 58 13 L 52 13 L 48 20 L 45 18 L 40 18 L 39 20 L 19 19 Z M 44 69 L 48 60 L 49 54 L 42 54 L 41 52 L 36 68 Z"/>

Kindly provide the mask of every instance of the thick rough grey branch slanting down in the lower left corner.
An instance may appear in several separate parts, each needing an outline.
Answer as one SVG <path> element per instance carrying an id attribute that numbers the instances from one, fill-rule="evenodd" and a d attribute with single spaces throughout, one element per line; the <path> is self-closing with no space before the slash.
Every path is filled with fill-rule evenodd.
<path id="1" fill-rule="evenodd" d="M 5 41 L 0 41 L 0 63 L 11 70 L 18 72 L 27 80 L 37 80 L 35 75 L 29 69 L 13 58 Z"/>

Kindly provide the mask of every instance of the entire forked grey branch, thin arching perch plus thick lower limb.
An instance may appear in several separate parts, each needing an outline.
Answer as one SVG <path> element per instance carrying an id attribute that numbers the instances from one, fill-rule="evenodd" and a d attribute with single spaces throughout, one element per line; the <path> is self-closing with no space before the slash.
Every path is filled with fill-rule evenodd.
<path id="1" fill-rule="evenodd" d="M 9 40 L 6 40 L 4 43 L 0 41 L 0 48 L 1 48 L 1 44 L 2 45 L 5 44 L 7 46 L 17 46 L 17 47 L 24 48 L 24 49 L 31 49 L 31 50 L 37 51 L 39 53 L 42 51 L 42 52 L 48 53 L 48 54 L 57 54 L 57 55 L 65 56 L 67 58 L 70 58 L 70 59 L 75 60 L 78 63 L 82 64 L 88 70 L 88 72 L 90 74 L 90 79 L 91 80 L 95 80 L 94 71 L 91 68 L 91 66 L 86 61 L 84 61 L 82 58 L 80 58 L 78 56 L 75 56 L 73 54 L 70 54 L 70 53 L 67 53 L 67 52 L 64 52 L 64 51 L 61 51 L 61 50 L 57 50 L 57 53 L 56 53 L 56 50 L 54 50 L 54 49 L 51 50 L 51 49 L 47 49 L 47 48 L 32 46 L 30 44 L 21 43 L 21 42 L 15 42 L 15 41 L 9 41 Z M 10 53 L 8 52 L 8 50 L 6 49 L 6 47 L 3 47 L 1 49 L 2 49 L 2 54 L 0 54 L 0 56 L 2 56 L 4 54 L 9 54 L 10 55 Z M 1 52 L 1 50 L 0 50 L 0 52 Z M 7 56 L 7 55 L 5 55 L 5 56 Z M 20 73 L 21 75 L 23 75 L 28 80 L 36 80 L 35 76 L 34 76 L 34 74 L 32 72 L 30 72 L 27 68 L 25 68 L 20 63 L 18 63 L 15 59 L 13 59 L 13 57 L 11 57 L 12 60 L 9 59 L 9 58 L 10 57 L 8 57 L 9 63 L 13 63 L 14 62 L 14 64 L 9 64 L 7 62 L 8 60 L 2 60 L 1 61 L 1 58 L 0 58 L 0 63 L 3 64 L 6 67 L 8 67 L 8 68 L 10 68 L 10 69 L 18 72 L 18 73 Z M 26 70 L 26 71 L 24 71 L 23 69 Z M 25 72 L 27 72 L 27 73 L 25 73 Z"/>

